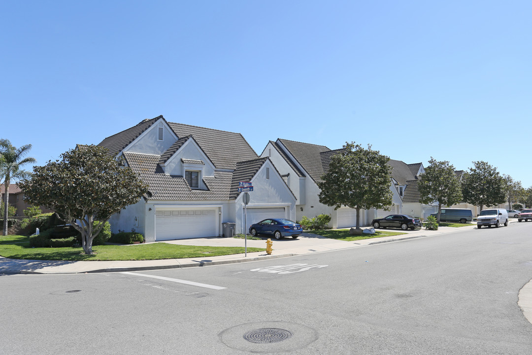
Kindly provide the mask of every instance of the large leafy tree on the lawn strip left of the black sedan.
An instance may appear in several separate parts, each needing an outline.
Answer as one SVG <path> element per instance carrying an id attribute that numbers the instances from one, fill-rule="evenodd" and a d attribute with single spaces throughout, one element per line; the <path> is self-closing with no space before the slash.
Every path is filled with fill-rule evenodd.
<path id="1" fill-rule="evenodd" d="M 344 145 L 341 153 L 331 157 L 328 172 L 318 183 L 320 202 L 334 207 L 345 205 L 356 210 L 356 229 L 360 229 L 360 210 L 386 208 L 393 204 L 390 191 L 389 157 L 362 148 L 355 142 Z"/>

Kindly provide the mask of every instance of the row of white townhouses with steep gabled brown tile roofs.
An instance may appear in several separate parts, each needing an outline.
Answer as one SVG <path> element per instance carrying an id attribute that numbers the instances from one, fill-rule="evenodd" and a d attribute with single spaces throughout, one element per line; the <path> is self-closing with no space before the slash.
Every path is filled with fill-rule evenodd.
<path id="1" fill-rule="evenodd" d="M 222 235 L 225 222 L 234 222 L 235 233 L 244 233 L 245 214 L 247 226 L 265 218 L 300 220 L 321 213 L 330 214 L 333 228 L 356 222 L 354 209 L 334 210 L 318 199 L 317 183 L 340 150 L 277 139 L 259 156 L 239 133 L 168 122 L 162 115 L 107 137 L 98 146 L 122 156 L 149 185 L 138 203 L 111 218 L 114 233 L 135 230 L 146 241 L 211 237 Z M 417 202 L 423 164 L 389 164 L 391 213 L 426 217 L 434 212 L 434 207 Z M 240 181 L 253 185 L 246 209 L 238 192 Z M 362 225 L 388 213 L 363 211 Z"/>

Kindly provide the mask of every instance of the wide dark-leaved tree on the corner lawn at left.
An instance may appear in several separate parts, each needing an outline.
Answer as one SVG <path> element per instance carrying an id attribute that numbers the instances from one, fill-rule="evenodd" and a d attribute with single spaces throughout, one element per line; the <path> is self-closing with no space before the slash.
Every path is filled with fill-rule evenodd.
<path id="1" fill-rule="evenodd" d="M 61 158 L 34 167 L 32 178 L 22 180 L 19 186 L 32 204 L 55 211 L 76 228 L 83 250 L 93 254 L 93 240 L 105 222 L 123 207 L 137 203 L 148 186 L 102 147 L 80 147 Z"/>

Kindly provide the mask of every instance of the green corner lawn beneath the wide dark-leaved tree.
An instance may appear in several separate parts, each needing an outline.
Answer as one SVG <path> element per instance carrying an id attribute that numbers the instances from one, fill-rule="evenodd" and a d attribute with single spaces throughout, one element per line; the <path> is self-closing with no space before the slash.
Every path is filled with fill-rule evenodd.
<path id="1" fill-rule="evenodd" d="M 11 243 L 20 242 L 23 236 L 9 236 Z M 17 238 L 18 237 L 18 238 Z M 0 239 L 0 256 L 11 259 L 31 260 L 158 260 L 208 258 L 218 255 L 243 254 L 244 247 L 174 245 L 167 243 L 135 244 L 135 245 L 95 245 L 95 255 L 83 254 L 81 247 L 33 248 L 29 242 L 7 244 Z M 265 251 L 263 248 L 248 247 L 247 252 Z"/>

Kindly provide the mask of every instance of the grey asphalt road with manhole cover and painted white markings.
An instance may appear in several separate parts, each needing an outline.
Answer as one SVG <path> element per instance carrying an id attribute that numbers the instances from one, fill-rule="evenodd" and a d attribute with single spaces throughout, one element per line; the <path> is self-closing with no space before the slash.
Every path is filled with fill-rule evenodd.
<path id="1" fill-rule="evenodd" d="M 0 276 L 0 353 L 529 355 L 517 302 L 531 278 L 530 223 L 203 268 Z"/>

